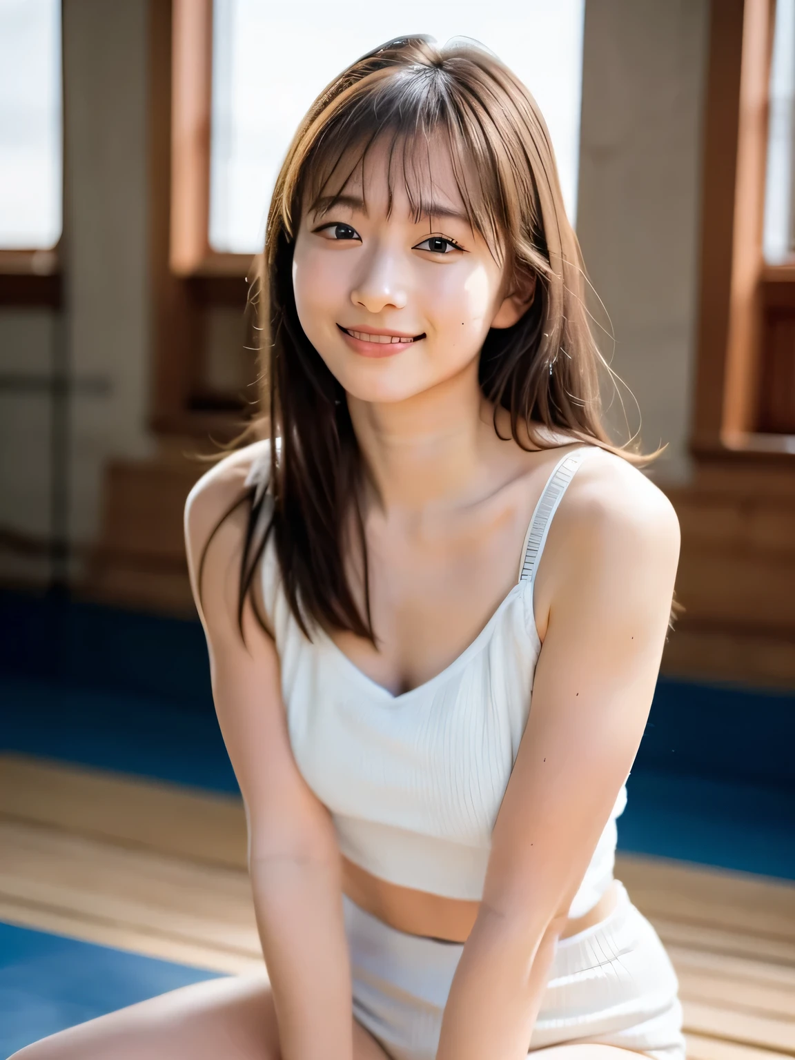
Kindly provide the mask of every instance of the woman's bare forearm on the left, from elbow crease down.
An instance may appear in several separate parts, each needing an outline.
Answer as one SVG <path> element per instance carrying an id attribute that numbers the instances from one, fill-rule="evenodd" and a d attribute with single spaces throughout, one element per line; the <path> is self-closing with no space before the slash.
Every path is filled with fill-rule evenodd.
<path id="1" fill-rule="evenodd" d="M 267 858 L 249 868 L 283 1060 L 351 1060 L 351 974 L 338 867 Z"/>

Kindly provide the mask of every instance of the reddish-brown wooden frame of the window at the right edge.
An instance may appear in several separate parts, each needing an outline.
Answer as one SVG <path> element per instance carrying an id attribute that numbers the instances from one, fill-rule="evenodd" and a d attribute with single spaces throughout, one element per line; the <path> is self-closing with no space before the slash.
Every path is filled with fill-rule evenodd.
<path id="1" fill-rule="evenodd" d="M 795 438 L 760 430 L 771 308 L 795 308 L 795 265 L 762 253 L 775 0 L 710 5 L 691 450 L 696 461 L 795 466 Z"/>

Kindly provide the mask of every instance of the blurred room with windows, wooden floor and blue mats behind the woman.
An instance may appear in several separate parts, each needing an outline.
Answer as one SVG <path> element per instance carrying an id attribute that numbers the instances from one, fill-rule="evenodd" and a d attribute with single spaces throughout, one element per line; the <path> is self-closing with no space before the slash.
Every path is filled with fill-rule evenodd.
<path id="1" fill-rule="evenodd" d="M 535 94 L 612 420 L 668 446 L 685 611 L 619 876 L 690 1056 L 795 1053 L 795 0 L 0 0 L 0 1052 L 261 965 L 182 506 L 254 411 L 296 125 L 406 32 Z"/>

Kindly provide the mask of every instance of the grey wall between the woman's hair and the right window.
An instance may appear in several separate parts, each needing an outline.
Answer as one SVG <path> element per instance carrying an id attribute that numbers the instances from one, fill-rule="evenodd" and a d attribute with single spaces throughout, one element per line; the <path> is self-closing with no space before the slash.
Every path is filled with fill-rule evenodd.
<path id="1" fill-rule="evenodd" d="M 708 11 L 709 0 L 585 7 L 578 233 L 612 319 L 612 367 L 637 400 L 644 448 L 669 443 L 654 472 L 669 482 L 689 475 Z"/>

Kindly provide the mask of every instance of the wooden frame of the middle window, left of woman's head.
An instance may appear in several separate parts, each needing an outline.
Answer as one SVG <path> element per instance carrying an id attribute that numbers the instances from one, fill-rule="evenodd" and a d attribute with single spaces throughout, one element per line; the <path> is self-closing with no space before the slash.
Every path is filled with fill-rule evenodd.
<path id="1" fill-rule="evenodd" d="M 243 406 L 202 401 L 204 315 L 243 315 L 251 257 L 209 243 L 212 21 L 212 0 L 149 0 L 149 422 L 161 436 L 225 441 L 240 431 Z"/>

